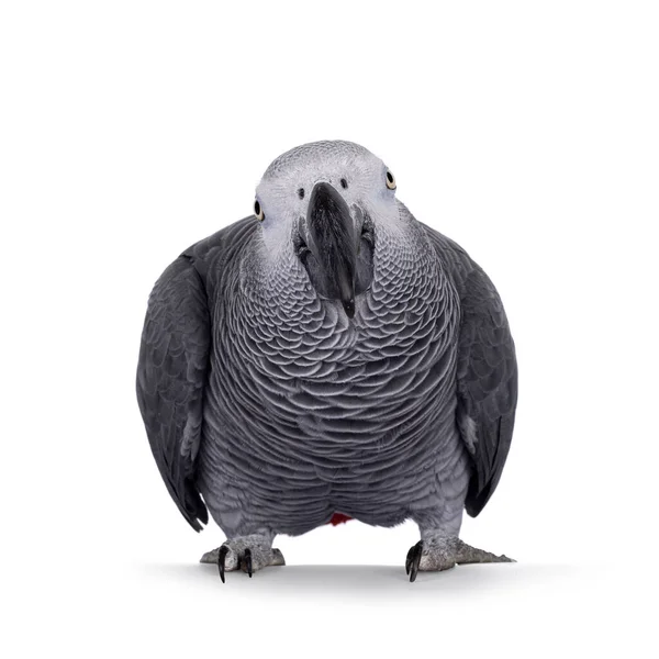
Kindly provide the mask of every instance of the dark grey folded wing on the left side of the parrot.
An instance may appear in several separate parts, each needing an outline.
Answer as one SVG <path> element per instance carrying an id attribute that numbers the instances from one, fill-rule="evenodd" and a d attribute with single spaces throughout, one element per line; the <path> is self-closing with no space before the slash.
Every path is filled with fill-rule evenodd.
<path id="1" fill-rule="evenodd" d="M 137 366 L 137 401 L 169 494 L 194 530 L 208 523 L 194 485 L 210 348 L 203 282 L 186 256 L 156 282 Z"/>

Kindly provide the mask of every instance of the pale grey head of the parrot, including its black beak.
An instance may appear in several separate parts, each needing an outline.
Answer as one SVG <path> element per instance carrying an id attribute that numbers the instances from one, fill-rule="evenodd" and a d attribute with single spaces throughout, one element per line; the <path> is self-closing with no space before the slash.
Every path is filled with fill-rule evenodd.
<path id="1" fill-rule="evenodd" d="M 378 235 L 395 232 L 395 179 L 351 142 L 313 142 L 271 163 L 256 189 L 264 258 L 298 264 L 321 298 L 355 315 L 373 279 Z"/>

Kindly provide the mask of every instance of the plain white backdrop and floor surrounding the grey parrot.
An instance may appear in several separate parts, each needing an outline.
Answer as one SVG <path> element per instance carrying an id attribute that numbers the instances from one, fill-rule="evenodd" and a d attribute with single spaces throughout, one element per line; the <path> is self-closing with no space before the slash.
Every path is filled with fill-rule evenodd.
<path id="1" fill-rule="evenodd" d="M 3 3 L 2 655 L 654 655 L 658 33 L 652 2 Z M 223 537 L 149 453 L 146 300 L 321 138 L 502 294 L 518 422 L 462 537 L 514 566 L 410 584 L 416 528 L 356 522 L 252 580 L 196 562 Z"/>

